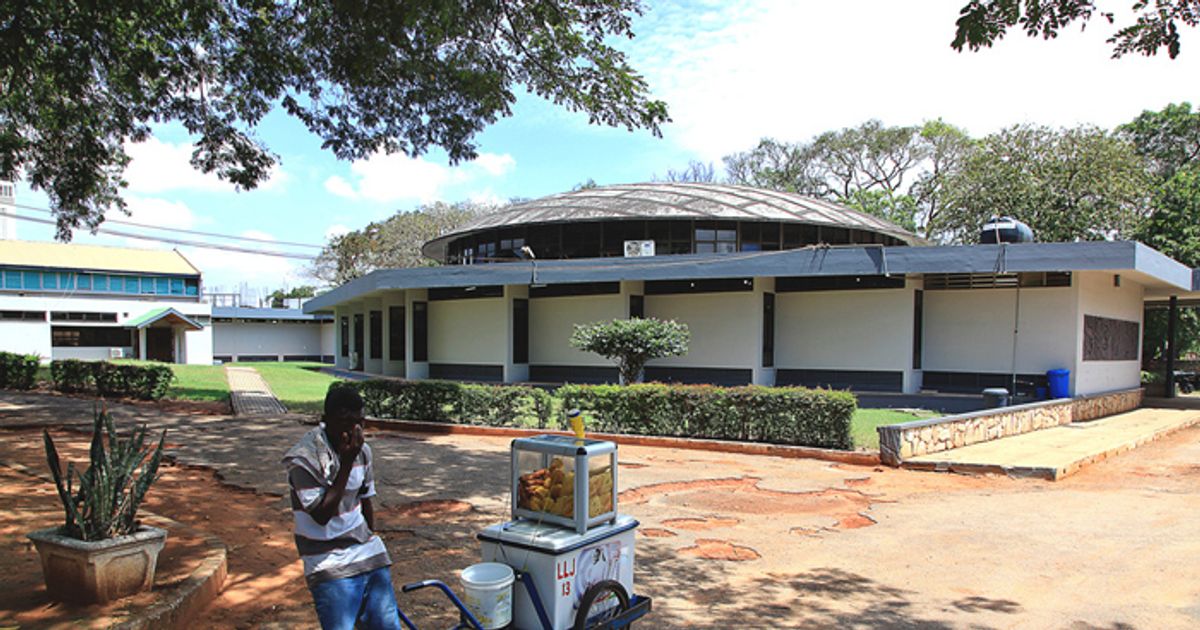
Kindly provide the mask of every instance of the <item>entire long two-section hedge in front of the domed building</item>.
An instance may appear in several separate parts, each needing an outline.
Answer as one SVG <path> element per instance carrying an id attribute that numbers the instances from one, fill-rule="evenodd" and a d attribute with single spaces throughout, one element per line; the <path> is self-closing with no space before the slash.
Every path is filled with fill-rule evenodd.
<path id="1" fill-rule="evenodd" d="M 850 424 L 857 408 L 846 391 L 804 388 L 709 385 L 564 385 L 553 395 L 527 385 L 479 385 L 449 380 L 360 380 L 335 383 L 362 396 L 373 418 L 426 422 L 546 428 L 564 426 L 554 415 L 578 408 L 588 430 L 638 436 L 678 436 L 853 448 Z"/>

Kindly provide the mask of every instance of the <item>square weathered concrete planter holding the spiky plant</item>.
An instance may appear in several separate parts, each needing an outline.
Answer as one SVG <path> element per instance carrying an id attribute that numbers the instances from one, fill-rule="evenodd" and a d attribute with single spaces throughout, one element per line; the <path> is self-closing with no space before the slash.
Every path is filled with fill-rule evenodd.
<path id="1" fill-rule="evenodd" d="M 67 538 L 61 528 L 29 534 L 42 558 L 42 575 L 50 598 L 95 604 L 112 601 L 154 586 L 158 552 L 167 530 L 142 526 L 126 536 L 84 541 Z"/>

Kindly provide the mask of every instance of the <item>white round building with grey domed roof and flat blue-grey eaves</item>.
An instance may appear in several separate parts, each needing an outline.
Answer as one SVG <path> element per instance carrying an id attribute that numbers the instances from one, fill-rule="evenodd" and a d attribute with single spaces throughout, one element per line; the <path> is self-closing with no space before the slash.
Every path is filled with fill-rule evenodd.
<path id="1" fill-rule="evenodd" d="M 625 256 L 647 240 L 655 256 Z M 508 253 L 524 247 L 535 257 Z M 340 367 L 616 383 L 571 348 L 572 328 L 655 317 L 692 341 L 646 380 L 1032 396 L 1063 368 L 1084 395 L 1138 386 L 1144 304 L 1194 290 L 1190 269 L 1136 242 L 934 246 L 829 202 L 708 184 L 552 196 L 424 251 L 450 264 L 378 270 L 305 305 L 335 317 Z"/>

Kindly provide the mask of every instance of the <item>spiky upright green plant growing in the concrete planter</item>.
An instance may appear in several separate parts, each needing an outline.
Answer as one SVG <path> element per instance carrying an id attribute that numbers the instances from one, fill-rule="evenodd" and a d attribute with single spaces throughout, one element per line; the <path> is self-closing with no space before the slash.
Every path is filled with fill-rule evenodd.
<path id="1" fill-rule="evenodd" d="M 167 438 L 163 431 L 158 446 L 151 452 L 145 445 L 145 434 L 146 427 L 140 426 L 128 438 L 121 439 L 113 416 L 96 409 L 91 430 L 91 462 L 80 475 L 76 475 L 74 462 L 67 462 L 64 475 L 54 440 L 48 431 L 42 431 L 46 458 L 66 511 L 64 535 L 79 540 L 104 540 L 132 534 L 138 528 L 138 506 L 157 479 L 162 444 Z M 142 469 L 134 478 L 138 467 Z M 78 487 L 74 486 L 76 476 Z"/>

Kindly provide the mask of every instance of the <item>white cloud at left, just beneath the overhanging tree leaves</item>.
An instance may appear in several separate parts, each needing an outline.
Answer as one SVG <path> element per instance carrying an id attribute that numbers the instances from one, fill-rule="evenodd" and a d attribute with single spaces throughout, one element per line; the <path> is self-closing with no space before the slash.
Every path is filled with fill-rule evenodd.
<path id="1" fill-rule="evenodd" d="M 131 162 L 125 169 L 125 180 L 134 193 L 156 194 L 168 191 L 233 192 L 233 184 L 221 181 L 212 173 L 200 173 L 192 168 L 193 146 L 190 143 L 170 143 L 150 137 L 142 143 L 128 143 L 125 150 Z M 271 175 L 256 190 L 281 190 L 288 174 L 278 164 Z"/>

